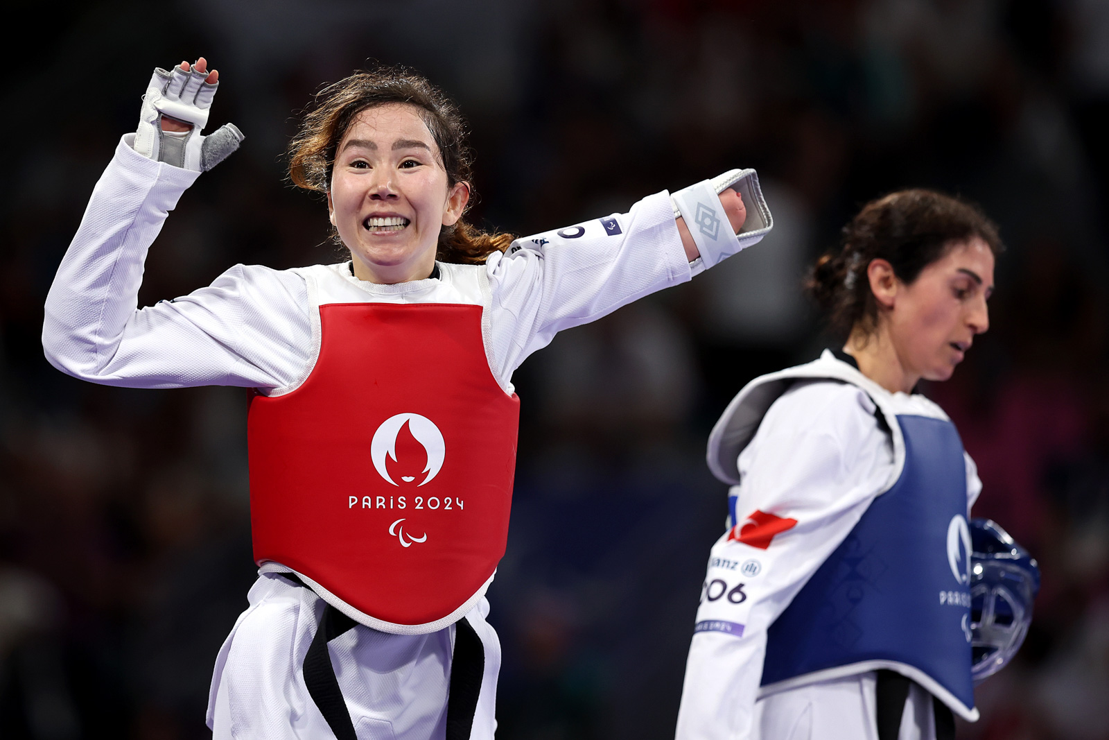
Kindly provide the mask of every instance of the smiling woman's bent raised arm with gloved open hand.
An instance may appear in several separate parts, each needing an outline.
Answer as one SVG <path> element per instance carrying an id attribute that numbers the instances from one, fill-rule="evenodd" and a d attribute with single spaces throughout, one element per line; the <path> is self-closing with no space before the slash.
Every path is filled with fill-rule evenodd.
<path id="1" fill-rule="evenodd" d="M 136 310 L 146 251 L 167 213 L 201 170 L 242 138 L 226 126 L 220 136 L 200 134 L 216 78 L 203 59 L 191 69 L 155 70 L 139 131 L 123 138 L 96 183 L 47 296 L 42 344 L 59 369 L 133 387 L 272 387 L 295 364 L 286 341 L 269 336 L 279 333 L 267 326 L 284 322 L 292 336 L 311 332 L 296 275 L 236 266 L 208 287 Z M 274 306 L 265 325 L 252 311 L 258 304 Z M 258 352 L 266 344 L 278 352 Z"/>

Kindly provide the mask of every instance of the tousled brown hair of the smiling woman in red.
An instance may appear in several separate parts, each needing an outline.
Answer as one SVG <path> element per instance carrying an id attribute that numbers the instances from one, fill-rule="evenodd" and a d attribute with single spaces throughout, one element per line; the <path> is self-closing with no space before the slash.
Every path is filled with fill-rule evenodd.
<path id="1" fill-rule="evenodd" d="M 378 67 L 355 72 L 327 85 L 315 95 L 315 104 L 289 142 L 288 174 L 298 187 L 326 193 L 330 187 L 335 151 L 358 113 L 386 103 L 407 103 L 419 109 L 420 118 L 439 148 L 447 171 L 447 186 L 470 183 L 472 154 L 466 145 L 467 129 L 458 107 L 425 78 L 403 67 Z M 337 232 L 335 239 L 338 240 Z M 503 252 L 511 234 L 490 234 L 459 219 L 439 232 L 436 259 L 440 262 L 481 264 L 494 252 Z"/>

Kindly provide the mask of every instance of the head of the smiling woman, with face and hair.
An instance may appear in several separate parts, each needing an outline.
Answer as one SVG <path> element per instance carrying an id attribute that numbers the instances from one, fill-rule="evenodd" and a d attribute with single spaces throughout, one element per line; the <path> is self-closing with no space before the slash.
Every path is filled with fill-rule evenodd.
<path id="1" fill-rule="evenodd" d="M 359 278 L 426 277 L 435 260 L 481 264 L 508 249 L 509 234 L 464 220 L 475 194 L 466 124 L 427 80 L 394 68 L 358 72 L 316 101 L 289 145 L 289 176 L 327 194 L 336 239 L 350 249 Z"/>

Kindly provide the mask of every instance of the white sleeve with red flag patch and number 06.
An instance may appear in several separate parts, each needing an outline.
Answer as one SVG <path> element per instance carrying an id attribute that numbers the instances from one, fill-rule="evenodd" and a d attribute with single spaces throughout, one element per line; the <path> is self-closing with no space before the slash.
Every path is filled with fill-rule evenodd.
<path id="1" fill-rule="evenodd" d="M 740 455 L 736 535 L 710 556 L 678 716 L 679 740 L 753 734 L 766 630 L 858 523 L 893 466 L 858 388 L 798 384 Z"/>

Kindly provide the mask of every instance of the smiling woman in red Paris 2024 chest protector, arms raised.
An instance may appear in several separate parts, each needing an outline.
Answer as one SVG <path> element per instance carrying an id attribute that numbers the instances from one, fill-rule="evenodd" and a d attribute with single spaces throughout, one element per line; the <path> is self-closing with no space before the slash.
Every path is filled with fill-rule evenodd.
<path id="1" fill-rule="evenodd" d="M 507 538 L 512 373 L 557 332 L 757 241 L 757 180 L 735 170 L 629 213 L 487 234 L 464 217 L 454 103 L 403 69 L 357 73 L 319 93 L 289 166 L 326 195 L 350 259 L 235 265 L 136 311 L 167 212 L 242 140 L 200 134 L 216 84 L 203 59 L 155 71 L 54 278 L 47 356 L 95 383 L 253 389 L 260 577 L 216 660 L 216 738 L 492 738 L 485 592 Z"/>

